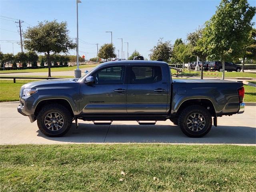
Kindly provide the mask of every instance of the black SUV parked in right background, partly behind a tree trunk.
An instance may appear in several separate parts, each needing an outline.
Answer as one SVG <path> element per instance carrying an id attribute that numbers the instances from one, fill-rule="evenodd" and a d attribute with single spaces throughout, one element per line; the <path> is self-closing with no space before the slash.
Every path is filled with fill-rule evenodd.
<path id="1" fill-rule="evenodd" d="M 220 61 L 208 61 L 205 62 L 204 68 L 206 70 L 214 70 L 214 71 L 222 71 L 222 62 Z M 234 64 L 233 62 L 225 62 L 225 70 L 226 71 L 241 71 L 241 66 Z"/>

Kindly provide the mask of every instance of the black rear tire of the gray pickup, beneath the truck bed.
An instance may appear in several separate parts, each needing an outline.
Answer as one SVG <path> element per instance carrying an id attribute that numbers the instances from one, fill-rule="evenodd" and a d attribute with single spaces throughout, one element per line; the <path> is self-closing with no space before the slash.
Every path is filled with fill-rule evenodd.
<path id="1" fill-rule="evenodd" d="M 203 128 L 199 127 L 199 126 L 203 126 L 201 124 L 202 121 L 198 121 L 198 120 L 193 121 L 193 122 L 196 122 L 198 128 L 196 127 L 196 125 L 192 125 L 193 124 L 192 120 L 190 120 L 189 118 L 191 118 L 191 116 L 193 116 L 193 114 L 201 114 L 203 116 L 203 118 L 202 118 L 202 121 L 204 121 Z M 191 123 L 188 125 L 189 121 Z M 198 125 L 198 123 L 200 123 L 200 124 Z M 191 105 L 191 106 L 186 107 L 180 113 L 179 118 L 178 118 L 178 125 L 180 126 L 180 129 L 186 136 L 194 137 L 194 138 L 202 137 L 202 136 L 206 135 L 212 128 L 212 116 L 206 108 L 204 108 L 200 105 Z M 201 129 L 194 130 L 194 128 L 196 128 L 196 129 L 201 128 Z M 191 130 L 191 129 L 193 129 L 193 130 Z"/>

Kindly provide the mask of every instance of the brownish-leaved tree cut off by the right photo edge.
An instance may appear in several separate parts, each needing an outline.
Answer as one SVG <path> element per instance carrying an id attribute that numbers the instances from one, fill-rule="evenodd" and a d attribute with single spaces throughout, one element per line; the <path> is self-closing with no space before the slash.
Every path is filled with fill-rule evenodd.
<path id="1" fill-rule="evenodd" d="M 255 28 L 253 28 L 250 31 L 250 34 L 248 36 L 248 44 L 246 44 L 243 50 L 242 72 L 244 72 L 245 58 L 252 58 L 256 60 L 256 29 Z"/>

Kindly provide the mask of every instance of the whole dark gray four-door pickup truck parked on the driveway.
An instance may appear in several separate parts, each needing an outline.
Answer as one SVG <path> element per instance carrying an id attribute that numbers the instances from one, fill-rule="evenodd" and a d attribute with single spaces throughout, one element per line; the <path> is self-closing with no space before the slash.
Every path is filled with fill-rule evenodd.
<path id="1" fill-rule="evenodd" d="M 241 82 L 172 79 L 166 62 L 114 61 L 79 79 L 25 84 L 18 112 L 50 137 L 66 134 L 78 119 L 148 125 L 170 119 L 187 136 L 202 137 L 217 117 L 244 112 L 243 98 Z"/>

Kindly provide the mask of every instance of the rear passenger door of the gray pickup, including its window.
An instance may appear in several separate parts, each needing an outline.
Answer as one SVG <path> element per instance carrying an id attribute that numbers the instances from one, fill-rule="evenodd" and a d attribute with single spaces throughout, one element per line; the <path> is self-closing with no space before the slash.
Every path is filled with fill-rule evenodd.
<path id="1" fill-rule="evenodd" d="M 168 83 L 162 67 L 144 64 L 129 66 L 128 115 L 164 115 L 168 103 Z"/>

